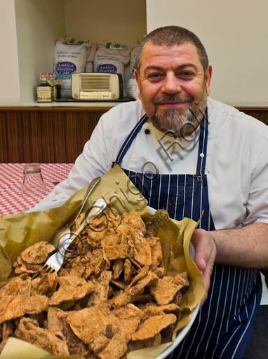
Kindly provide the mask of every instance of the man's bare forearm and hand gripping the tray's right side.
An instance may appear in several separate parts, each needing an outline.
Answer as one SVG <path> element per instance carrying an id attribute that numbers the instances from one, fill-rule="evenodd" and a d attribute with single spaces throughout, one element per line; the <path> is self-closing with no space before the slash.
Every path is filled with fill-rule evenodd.
<path id="1" fill-rule="evenodd" d="M 196 229 L 192 235 L 196 251 L 194 261 L 203 273 L 206 296 L 213 264 L 241 268 L 268 268 L 268 224 L 253 223 L 239 229 L 205 231 Z"/>

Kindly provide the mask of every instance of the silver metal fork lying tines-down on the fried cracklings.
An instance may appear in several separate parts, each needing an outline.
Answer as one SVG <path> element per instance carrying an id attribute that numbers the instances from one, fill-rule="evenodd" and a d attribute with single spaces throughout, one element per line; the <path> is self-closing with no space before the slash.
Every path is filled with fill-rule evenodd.
<path id="1" fill-rule="evenodd" d="M 93 208 L 88 212 L 88 215 L 86 215 L 86 218 L 83 220 L 81 225 L 79 226 L 79 229 L 77 229 L 72 236 L 67 238 L 57 252 L 55 252 L 51 257 L 49 257 L 46 261 L 46 263 L 43 265 L 43 268 L 38 273 L 34 274 L 32 278 L 36 278 L 36 276 L 39 276 L 41 273 L 53 273 L 58 272 L 59 269 L 62 267 L 63 261 L 65 259 L 65 252 L 67 251 L 67 248 L 69 245 L 74 241 L 74 239 L 79 236 L 79 233 L 83 231 L 83 229 L 98 215 L 100 215 L 103 210 L 105 210 L 107 206 L 107 203 L 102 199 L 98 199 L 93 205 Z"/>

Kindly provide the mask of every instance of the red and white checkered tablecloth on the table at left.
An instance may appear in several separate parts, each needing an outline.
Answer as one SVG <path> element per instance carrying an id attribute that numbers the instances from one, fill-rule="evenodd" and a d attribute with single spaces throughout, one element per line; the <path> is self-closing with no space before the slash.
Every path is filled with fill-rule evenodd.
<path id="1" fill-rule="evenodd" d="M 67 178 L 73 163 L 41 163 L 44 191 L 33 190 L 22 194 L 24 163 L 0 163 L 0 215 L 20 213 L 34 207 L 55 187 Z"/>

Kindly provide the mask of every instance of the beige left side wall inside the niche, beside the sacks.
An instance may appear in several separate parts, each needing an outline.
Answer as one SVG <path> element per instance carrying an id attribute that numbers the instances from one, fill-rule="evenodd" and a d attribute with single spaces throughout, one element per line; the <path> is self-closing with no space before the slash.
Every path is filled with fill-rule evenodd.
<path id="1" fill-rule="evenodd" d="M 40 72 L 53 71 L 55 39 L 65 34 L 64 0 L 15 0 L 22 102 L 35 98 Z"/>

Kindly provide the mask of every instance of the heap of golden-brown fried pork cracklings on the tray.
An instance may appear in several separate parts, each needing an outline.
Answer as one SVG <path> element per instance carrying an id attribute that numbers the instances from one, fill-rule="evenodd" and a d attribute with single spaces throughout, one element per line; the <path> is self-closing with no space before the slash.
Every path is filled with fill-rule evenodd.
<path id="1" fill-rule="evenodd" d="M 0 351 L 16 337 L 55 356 L 119 359 L 170 341 L 187 273 L 166 276 L 160 240 L 140 215 L 106 210 L 74 241 L 58 273 L 32 279 L 53 252 L 50 243 L 30 246 L 0 283 Z"/>

